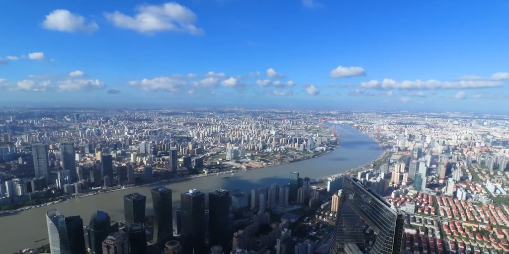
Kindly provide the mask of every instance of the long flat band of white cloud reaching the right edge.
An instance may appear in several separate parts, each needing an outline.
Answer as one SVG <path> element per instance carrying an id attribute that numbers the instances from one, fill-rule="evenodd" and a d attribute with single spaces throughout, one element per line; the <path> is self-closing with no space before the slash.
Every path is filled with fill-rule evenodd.
<path id="1" fill-rule="evenodd" d="M 371 80 L 361 82 L 360 86 L 370 89 L 400 89 L 400 90 L 434 90 L 434 89 L 472 89 L 472 88 L 495 88 L 502 87 L 504 80 L 509 79 L 509 73 L 499 72 L 493 74 L 490 78 L 478 76 L 466 76 L 456 81 L 439 80 L 404 80 L 402 82 L 393 79 L 384 79 L 382 81 Z"/>

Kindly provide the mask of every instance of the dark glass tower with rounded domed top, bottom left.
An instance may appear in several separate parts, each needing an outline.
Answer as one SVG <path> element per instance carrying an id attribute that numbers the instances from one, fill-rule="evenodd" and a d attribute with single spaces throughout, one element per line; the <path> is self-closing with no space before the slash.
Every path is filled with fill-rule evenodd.
<path id="1" fill-rule="evenodd" d="M 111 219 L 103 211 L 95 211 L 90 218 L 90 248 L 92 254 L 102 253 L 102 241 L 110 234 Z"/>

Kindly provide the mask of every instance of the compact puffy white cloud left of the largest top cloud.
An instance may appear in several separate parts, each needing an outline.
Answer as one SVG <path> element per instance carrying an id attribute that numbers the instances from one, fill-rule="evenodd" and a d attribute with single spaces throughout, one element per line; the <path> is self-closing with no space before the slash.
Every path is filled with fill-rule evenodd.
<path id="1" fill-rule="evenodd" d="M 60 32 L 94 32 L 99 29 L 96 22 L 86 23 L 83 16 L 73 14 L 68 10 L 54 10 L 42 23 L 42 27 Z"/>

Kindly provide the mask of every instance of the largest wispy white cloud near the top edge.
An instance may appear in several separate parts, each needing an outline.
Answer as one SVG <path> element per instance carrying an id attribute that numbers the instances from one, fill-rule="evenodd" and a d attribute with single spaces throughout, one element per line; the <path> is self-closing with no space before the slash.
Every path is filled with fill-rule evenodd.
<path id="1" fill-rule="evenodd" d="M 203 30 L 194 24 L 196 14 L 185 6 L 175 2 L 163 5 L 142 5 L 136 7 L 137 14 L 133 17 L 121 12 L 104 13 L 104 17 L 115 26 L 132 29 L 139 33 L 156 33 L 175 31 L 193 35 L 203 34 Z"/>

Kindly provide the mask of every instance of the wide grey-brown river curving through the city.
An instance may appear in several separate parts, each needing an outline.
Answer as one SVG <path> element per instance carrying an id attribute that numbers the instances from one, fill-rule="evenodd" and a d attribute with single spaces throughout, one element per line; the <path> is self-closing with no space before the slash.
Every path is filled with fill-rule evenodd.
<path id="1" fill-rule="evenodd" d="M 192 188 L 208 192 L 217 188 L 231 191 L 250 190 L 270 186 L 273 183 L 281 186 L 290 182 L 290 172 L 300 173 L 301 178 L 326 177 L 369 163 L 382 153 L 380 146 L 370 136 L 362 134 L 357 129 L 338 125 L 336 131 L 341 134 L 340 147 L 317 158 L 238 172 L 235 176 L 224 174 L 199 177 L 164 185 L 172 189 L 174 208 L 176 208 L 180 201 L 180 193 Z M 347 134 L 350 135 L 350 138 L 347 137 Z M 230 178 L 222 179 L 224 176 L 230 176 Z M 147 196 L 147 214 L 152 214 L 150 189 L 156 186 L 158 185 L 97 194 L 2 216 L 0 217 L 0 253 L 10 254 L 19 249 L 35 248 L 47 244 L 47 240 L 37 243 L 34 241 L 48 236 L 45 212 L 53 208 L 59 209 L 66 216 L 69 213 L 80 215 L 84 224 L 90 222 L 90 217 L 96 210 L 105 211 L 112 220 L 120 221 L 124 219 L 123 196 L 139 192 Z"/>

